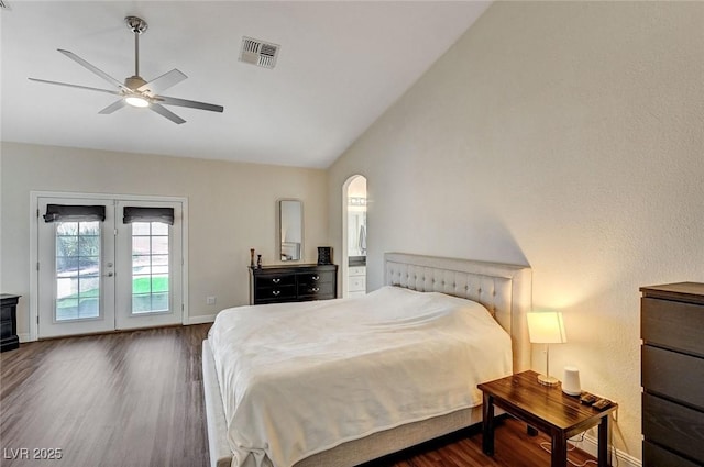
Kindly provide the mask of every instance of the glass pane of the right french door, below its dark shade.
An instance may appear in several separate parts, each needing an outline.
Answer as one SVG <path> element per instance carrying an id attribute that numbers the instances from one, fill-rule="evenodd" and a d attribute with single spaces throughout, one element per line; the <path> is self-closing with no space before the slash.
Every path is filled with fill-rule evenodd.
<path id="1" fill-rule="evenodd" d="M 132 314 L 169 311 L 168 249 L 168 225 L 132 223 Z"/>

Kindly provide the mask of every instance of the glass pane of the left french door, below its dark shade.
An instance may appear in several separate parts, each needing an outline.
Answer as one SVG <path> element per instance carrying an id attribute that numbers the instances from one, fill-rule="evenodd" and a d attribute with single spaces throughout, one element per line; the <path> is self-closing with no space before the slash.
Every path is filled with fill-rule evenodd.
<path id="1" fill-rule="evenodd" d="M 100 318 L 100 222 L 56 224 L 56 321 Z"/>

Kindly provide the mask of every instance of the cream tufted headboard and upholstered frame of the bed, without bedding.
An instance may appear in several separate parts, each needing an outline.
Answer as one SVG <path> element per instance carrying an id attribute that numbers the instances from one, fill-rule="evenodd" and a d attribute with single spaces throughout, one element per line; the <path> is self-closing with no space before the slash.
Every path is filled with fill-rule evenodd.
<path id="1" fill-rule="evenodd" d="M 530 268 L 404 253 L 387 253 L 384 259 L 385 286 L 417 292 L 437 292 L 435 294 L 441 293 L 481 303 L 510 338 L 512 352 L 508 358 L 513 371 L 517 373 L 529 368 L 530 344 L 527 338 L 525 313 L 529 311 L 531 304 Z M 380 293 L 383 294 L 386 291 L 381 290 Z M 428 297 L 430 296 L 433 293 L 428 293 Z M 344 303 L 344 300 L 338 301 Z M 317 305 L 322 307 L 320 303 Z M 251 312 L 251 310 L 242 309 L 240 313 L 248 311 Z M 209 340 L 213 338 L 212 335 L 209 336 Z M 242 462 L 241 453 L 233 454 L 230 447 L 226 421 L 226 404 L 229 402 L 223 403 L 218 377 L 218 368 L 221 364 L 216 365 L 216 357 L 209 340 L 204 341 L 202 364 L 211 465 L 213 467 L 267 465 L 268 459 L 262 459 L 261 455 L 249 456 L 244 459 L 245 462 Z M 222 374 L 222 370 L 220 373 Z M 276 416 L 274 414 L 273 420 Z M 363 437 L 327 446 L 322 451 L 316 451 L 297 460 L 294 465 L 295 467 L 350 467 L 452 433 L 480 421 L 481 404 L 466 407 L 393 425 L 367 433 Z M 276 422 L 274 421 L 274 423 Z M 301 423 L 309 424 L 310 422 L 304 421 Z M 233 463 L 233 456 L 239 460 Z M 264 464 L 261 464 L 262 462 Z"/>

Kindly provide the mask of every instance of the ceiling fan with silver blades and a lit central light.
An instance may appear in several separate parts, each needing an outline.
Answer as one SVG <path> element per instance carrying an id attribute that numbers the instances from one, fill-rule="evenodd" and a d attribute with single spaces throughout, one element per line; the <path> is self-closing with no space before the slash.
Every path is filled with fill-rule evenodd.
<path id="1" fill-rule="evenodd" d="M 59 85 L 59 86 L 68 86 L 69 88 L 78 88 L 78 89 L 87 89 L 89 91 L 98 91 L 98 92 L 107 92 L 109 94 L 120 96 L 120 99 L 110 105 L 106 107 L 98 113 L 109 114 L 117 110 L 122 109 L 124 105 L 132 107 L 141 107 L 141 108 L 150 108 L 154 112 L 158 113 L 162 116 L 167 118 L 174 123 L 180 124 L 186 121 L 166 109 L 164 105 L 179 105 L 179 107 L 188 107 L 191 109 L 200 109 L 200 110 L 209 110 L 211 112 L 222 112 L 224 108 L 222 105 L 216 105 L 212 103 L 197 102 L 186 99 L 177 99 L 169 98 L 167 96 L 161 96 L 160 92 L 175 86 L 187 78 L 178 69 L 174 68 L 173 70 L 165 73 L 164 75 L 154 78 L 151 81 L 145 81 L 140 76 L 140 35 L 143 34 L 148 25 L 146 21 L 136 16 L 127 16 L 124 19 L 130 31 L 134 33 L 134 76 L 130 76 L 125 78 L 124 84 L 118 81 L 107 73 L 97 68 L 96 66 L 89 64 L 88 62 L 80 58 L 78 55 L 73 52 L 64 51 L 58 48 L 58 52 L 66 55 L 72 60 L 78 63 L 79 65 L 88 68 L 90 71 L 95 73 L 106 81 L 117 87 L 117 90 L 112 89 L 100 89 L 100 88 L 91 88 L 88 86 L 79 86 L 79 85 L 70 85 L 68 82 L 58 82 L 58 81 L 47 81 L 46 79 L 37 79 L 30 78 L 32 81 L 37 82 L 46 82 L 50 85 Z"/>

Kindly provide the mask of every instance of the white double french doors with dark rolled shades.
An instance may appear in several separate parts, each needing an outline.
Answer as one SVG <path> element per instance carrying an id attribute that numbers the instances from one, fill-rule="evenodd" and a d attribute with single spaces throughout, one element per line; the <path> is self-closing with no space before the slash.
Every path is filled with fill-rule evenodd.
<path id="1" fill-rule="evenodd" d="M 37 336 L 183 322 L 177 201 L 37 198 Z"/>

